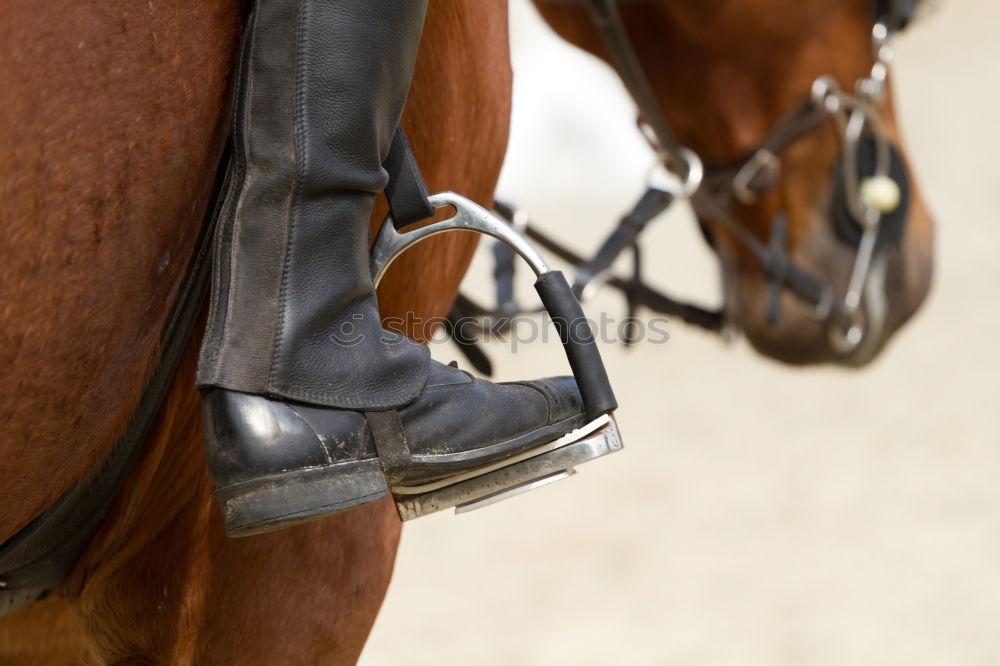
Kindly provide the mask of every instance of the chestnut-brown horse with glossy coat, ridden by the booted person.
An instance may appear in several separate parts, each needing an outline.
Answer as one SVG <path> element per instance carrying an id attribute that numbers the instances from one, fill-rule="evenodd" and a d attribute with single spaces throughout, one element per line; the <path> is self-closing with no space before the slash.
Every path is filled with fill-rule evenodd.
<path id="1" fill-rule="evenodd" d="M 862 0 L 802 4 L 626 7 L 685 144 L 731 159 L 812 78 L 833 73 L 849 83 L 870 65 Z M 561 34 L 600 52 L 579 9 L 543 11 Z M 0 541 L 80 478 L 135 408 L 210 199 L 243 8 L 237 0 L 40 0 L 9 3 L 3 15 Z M 761 48 L 761 35 L 795 57 Z M 432 189 L 489 201 L 509 88 L 505 3 L 432 3 L 404 119 Z M 849 261 L 823 241 L 821 213 L 836 150 L 832 136 L 803 141 L 781 188 L 739 213 L 764 237 L 770 213 L 783 206 L 795 254 L 839 277 Z M 926 290 L 929 229 L 916 206 L 880 340 Z M 383 314 L 443 314 L 473 243 L 448 235 L 404 256 L 380 290 Z M 730 254 L 732 296 L 758 303 L 758 269 Z M 741 307 L 741 324 L 768 353 L 829 356 L 811 322 L 787 317 L 774 329 L 755 321 L 756 311 Z M 143 457 L 70 584 L 0 619 L 3 663 L 356 660 L 392 569 L 399 523 L 391 505 L 227 539 L 201 448 L 195 348 L 192 341 Z"/>

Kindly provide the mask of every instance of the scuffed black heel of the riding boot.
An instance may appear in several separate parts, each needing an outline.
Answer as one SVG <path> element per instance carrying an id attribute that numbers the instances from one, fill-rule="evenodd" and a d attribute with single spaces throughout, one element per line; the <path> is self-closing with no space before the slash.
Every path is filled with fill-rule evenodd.
<path id="1" fill-rule="evenodd" d="M 231 537 L 291 527 L 388 495 L 376 459 L 274 474 L 215 491 Z"/>

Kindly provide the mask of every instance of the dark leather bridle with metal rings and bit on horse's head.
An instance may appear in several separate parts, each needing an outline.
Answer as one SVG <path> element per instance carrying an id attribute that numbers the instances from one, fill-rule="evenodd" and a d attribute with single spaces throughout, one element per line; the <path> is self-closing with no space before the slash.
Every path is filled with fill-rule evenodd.
<path id="1" fill-rule="evenodd" d="M 781 296 L 788 292 L 810 306 L 813 316 L 828 328 L 838 352 L 849 354 L 856 349 L 865 335 L 862 301 L 876 246 L 898 240 L 908 206 L 905 168 L 881 123 L 878 107 L 885 96 L 892 60 L 892 34 L 912 21 L 919 0 L 878 0 L 872 27 L 874 63 L 868 75 L 857 81 L 853 91 L 843 90 L 831 76 L 819 77 L 806 99 L 780 118 L 743 159 L 726 165 L 706 165 L 678 142 L 622 21 L 619 4 L 628 0 L 544 1 L 587 9 L 611 64 L 638 107 L 640 129 L 657 160 L 640 200 L 590 259 L 533 227 L 523 213 L 503 204 L 498 205 L 498 212 L 506 214 L 529 238 L 576 266 L 574 289 L 581 299 L 608 284 L 623 291 L 630 316 L 644 306 L 709 330 L 724 331 L 730 323 L 725 311 L 675 301 L 649 288 L 641 278 L 641 232 L 677 199 L 687 199 L 700 220 L 719 223 L 760 264 L 768 282 L 766 315 L 770 323 L 780 321 Z M 771 237 L 765 243 L 731 211 L 734 200 L 749 205 L 774 188 L 781 178 L 782 153 L 828 122 L 836 128 L 842 150 L 835 173 L 835 192 L 840 194 L 834 202 L 838 236 L 856 245 L 847 291 L 840 299 L 835 297 L 833 285 L 786 254 L 788 223 L 784 214 L 772 220 Z M 887 224 L 890 221 L 894 224 Z M 633 254 L 633 276 L 622 280 L 612 276 L 610 269 L 626 249 Z M 460 297 L 452 319 L 473 315 L 480 317 L 484 326 L 495 327 L 497 321 L 521 311 L 513 301 L 509 258 L 499 248 L 497 255 L 497 308 L 482 308 Z"/>

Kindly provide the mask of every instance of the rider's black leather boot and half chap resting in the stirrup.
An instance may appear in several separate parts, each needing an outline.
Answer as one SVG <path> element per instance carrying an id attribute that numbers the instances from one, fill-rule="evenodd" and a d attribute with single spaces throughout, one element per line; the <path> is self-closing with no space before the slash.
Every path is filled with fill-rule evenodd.
<path id="1" fill-rule="evenodd" d="M 571 378 L 490 384 L 381 328 L 369 217 L 425 7 L 254 3 L 198 374 L 232 535 L 464 479 L 586 421 Z"/>

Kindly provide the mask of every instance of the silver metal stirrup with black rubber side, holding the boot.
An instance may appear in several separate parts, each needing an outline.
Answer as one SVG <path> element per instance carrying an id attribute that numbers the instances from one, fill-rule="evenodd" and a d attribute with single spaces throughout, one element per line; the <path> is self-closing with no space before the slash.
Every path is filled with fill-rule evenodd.
<path id="1" fill-rule="evenodd" d="M 593 331 L 562 272 L 552 270 L 513 227 L 469 199 L 454 192 L 440 192 L 431 195 L 428 201 L 435 209 L 451 206 L 456 213 L 446 220 L 409 231 L 398 230 L 392 217 L 386 218 L 371 253 L 370 268 L 376 286 L 403 251 L 439 233 L 474 231 L 506 243 L 537 276 L 535 290 L 560 334 L 589 422 L 559 439 L 474 472 L 422 486 L 392 487 L 396 509 L 404 521 L 451 507 L 455 507 L 456 513 L 463 513 L 494 504 L 571 476 L 576 465 L 622 448 L 618 425 L 612 416 L 618 403 Z"/>

